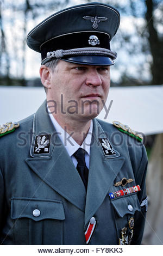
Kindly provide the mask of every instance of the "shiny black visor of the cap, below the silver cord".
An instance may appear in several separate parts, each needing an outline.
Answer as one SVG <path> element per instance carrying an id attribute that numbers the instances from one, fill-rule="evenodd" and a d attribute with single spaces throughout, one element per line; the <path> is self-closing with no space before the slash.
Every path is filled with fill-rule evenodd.
<path id="1" fill-rule="evenodd" d="M 95 66 L 110 66 L 114 65 L 114 60 L 106 56 L 95 56 L 95 55 L 85 55 L 85 56 L 72 56 L 68 58 L 61 58 L 66 62 L 72 62 L 84 65 L 95 65 Z"/>

